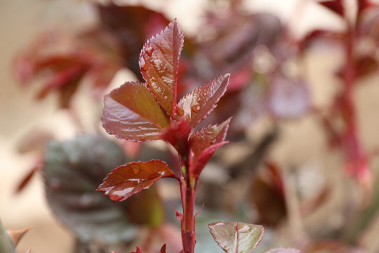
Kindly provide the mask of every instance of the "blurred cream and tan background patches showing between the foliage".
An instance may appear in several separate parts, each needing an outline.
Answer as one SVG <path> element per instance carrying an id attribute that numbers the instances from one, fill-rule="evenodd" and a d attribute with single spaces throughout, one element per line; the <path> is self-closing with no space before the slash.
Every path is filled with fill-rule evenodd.
<path id="1" fill-rule="evenodd" d="M 178 18 L 186 34 L 197 34 L 206 10 L 227 5 L 227 1 L 215 4 L 217 1 L 206 0 L 117 2 L 144 4 L 164 12 L 168 18 Z M 354 15 L 354 1 L 345 2 L 346 10 Z M 244 6 L 246 13 L 268 12 L 277 15 L 281 21 L 288 24 L 288 29 L 295 38 L 302 37 L 315 27 L 331 30 L 342 30 L 344 27 L 335 13 L 322 8 L 312 0 L 246 0 Z M 296 11 L 298 8 L 301 11 Z M 39 89 L 40 80 L 34 80 L 33 85 L 20 85 L 15 77 L 15 58 L 46 30 L 80 31 L 91 27 L 95 22 L 95 11 L 91 8 L 90 1 L 0 1 L 0 219 L 8 229 L 32 226 L 20 242 L 19 252 L 25 252 L 32 247 L 32 252 L 66 253 L 70 252 L 74 245 L 72 235 L 56 221 L 46 203 L 41 175 L 35 176 L 22 193 L 15 194 L 15 188 L 34 166 L 37 153 L 20 153 L 24 140 L 29 140 L 33 135 L 39 135 L 44 131 L 51 133 L 55 139 L 67 140 L 74 137 L 77 131 L 69 113 L 58 109 L 57 97 L 54 94 L 36 102 L 34 96 Z M 307 79 L 313 105 L 322 107 L 333 100 L 335 92 L 339 89 L 339 81 L 334 72 L 336 66 L 343 63 L 343 59 L 342 50 L 335 47 L 331 49 L 328 45 L 307 51 L 304 60 L 306 65 L 302 66 L 301 70 Z M 376 150 L 379 144 L 378 76 L 376 71 L 359 80 L 359 85 L 354 88 L 359 137 L 366 150 Z M 109 89 L 131 79 L 135 79 L 133 73 L 123 70 L 112 80 Z M 74 103 L 77 108 L 81 108 L 78 117 L 81 117 L 84 127 L 89 131 L 95 131 L 97 126 L 93 126 L 93 121 L 98 115 L 91 113 L 91 109 L 88 108 L 101 108 L 102 105 L 93 105 L 93 101 L 84 95 L 86 93 L 88 88 L 81 89 Z M 254 122 L 249 128 L 248 138 L 257 140 L 265 133 L 267 126 L 270 126 L 269 122 L 270 119 L 267 117 Z M 321 229 L 323 223 L 324 226 L 339 227 L 345 222 L 343 200 L 352 198 L 352 205 L 355 205 L 367 194 L 366 190 L 350 187 L 354 185 L 353 180 L 348 179 L 346 183 L 346 176 L 339 169 L 343 157 L 326 148 L 328 144 L 325 133 L 314 116 L 304 115 L 295 120 L 285 120 L 279 123 L 279 128 L 279 139 L 272 145 L 267 156 L 288 171 L 291 171 L 291 168 L 300 171 L 295 177 L 288 176 L 288 182 L 298 186 L 302 193 L 309 197 L 317 195 L 324 186 L 331 186 L 328 200 L 312 215 L 301 219 L 295 209 L 296 204 L 289 207 L 285 226 L 289 228 L 288 233 L 295 234 L 294 238 L 300 240 L 307 238 L 307 233 L 313 228 Z M 234 147 L 234 150 L 238 148 Z M 232 153 L 232 150 L 233 148 L 229 152 Z M 234 156 L 237 158 L 233 159 L 238 160 L 239 152 L 236 153 Z M 371 160 L 374 175 L 377 174 L 378 165 L 378 159 L 374 156 Z M 379 216 L 375 214 L 359 240 L 361 247 L 367 252 L 379 252 L 378 231 Z"/>

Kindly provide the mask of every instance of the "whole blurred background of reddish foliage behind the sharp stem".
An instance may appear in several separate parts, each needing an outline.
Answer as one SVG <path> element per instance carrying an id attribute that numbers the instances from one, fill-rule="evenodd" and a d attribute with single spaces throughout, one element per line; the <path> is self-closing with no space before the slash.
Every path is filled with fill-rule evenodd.
<path id="1" fill-rule="evenodd" d="M 204 170 L 198 249 L 220 252 L 207 223 L 265 226 L 261 251 L 378 252 L 379 7 L 333 1 L 2 1 L 0 219 L 33 229 L 33 252 L 180 249 L 170 180 L 125 203 L 95 188 L 130 160 L 173 164 L 164 143 L 100 126 L 102 96 L 142 80 L 140 49 L 178 18 L 179 90 L 230 72 L 205 124 L 233 116 Z"/>

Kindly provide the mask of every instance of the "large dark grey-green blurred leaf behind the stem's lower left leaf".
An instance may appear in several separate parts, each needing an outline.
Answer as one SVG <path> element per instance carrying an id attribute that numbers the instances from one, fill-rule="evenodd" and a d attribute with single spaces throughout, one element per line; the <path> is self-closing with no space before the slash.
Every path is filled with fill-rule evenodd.
<path id="1" fill-rule="evenodd" d="M 95 191 L 112 168 L 125 162 L 123 150 L 102 136 L 83 135 L 46 145 L 48 204 L 80 241 L 114 243 L 133 238 L 133 226 L 125 215 L 127 203 L 109 201 Z"/>

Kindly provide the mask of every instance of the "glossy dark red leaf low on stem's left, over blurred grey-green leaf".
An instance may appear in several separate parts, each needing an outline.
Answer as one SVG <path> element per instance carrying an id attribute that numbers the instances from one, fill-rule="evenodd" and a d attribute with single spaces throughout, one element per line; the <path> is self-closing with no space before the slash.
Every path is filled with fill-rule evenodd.
<path id="1" fill-rule="evenodd" d="M 104 192 L 111 200 L 121 202 L 149 188 L 158 179 L 173 176 L 173 171 L 160 160 L 129 162 L 112 169 L 96 190 Z"/>

